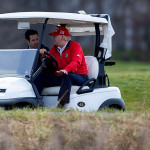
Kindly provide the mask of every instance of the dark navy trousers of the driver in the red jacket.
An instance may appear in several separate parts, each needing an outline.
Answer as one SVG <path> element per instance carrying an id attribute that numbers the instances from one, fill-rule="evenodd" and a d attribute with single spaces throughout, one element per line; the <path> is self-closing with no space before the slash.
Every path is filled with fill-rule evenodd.
<path id="1" fill-rule="evenodd" d="M 61 106 L 64 106 L 70 101 L 70 91 L 72 85 L 81 86 L 88 80 L 87 75 L 79 75 L 76 73 L 68 73 L 62 76 L 55 76 L 50 73 L 42 72 L 34 81 L 39 94 L 43 87 L 60 86 L 58 101 Z"/>

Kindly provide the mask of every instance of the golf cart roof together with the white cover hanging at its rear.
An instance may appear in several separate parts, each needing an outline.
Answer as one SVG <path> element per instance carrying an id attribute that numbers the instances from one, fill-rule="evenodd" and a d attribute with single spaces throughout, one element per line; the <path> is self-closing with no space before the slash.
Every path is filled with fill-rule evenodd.
<path id="1" fill-rule="evenodd" d="M 105 59 L 111 57 L 111 37 L 114 30 L 111 26 L 110 18 L 107 15 L 64 12 L 15 12 L 0 14 L 0 19 L 18 21 L 18 28 L 27 29 L 30 24 L 44 23 L 48 19 L 47 24 L 66 25 L 72 36 L 95 35 L 95 24 L 99 24 L 100 34 L 104 35 L 100 47 L 107 49 Z"/>

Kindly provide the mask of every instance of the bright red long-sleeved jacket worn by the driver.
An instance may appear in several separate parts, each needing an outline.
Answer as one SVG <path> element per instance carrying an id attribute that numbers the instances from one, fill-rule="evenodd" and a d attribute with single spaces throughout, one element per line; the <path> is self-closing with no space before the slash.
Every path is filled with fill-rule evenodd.
<path id="1" fill-rule="evenodd" d="M 61 56 L 57 51 L 57 46 L 54 45 L 50 49 L 50 54 L 52 54 L 58 62 L 57 70 L 65 69 L 67 72 L 87 75 L 85 57 L 79 43 L 69 41 Z"/>

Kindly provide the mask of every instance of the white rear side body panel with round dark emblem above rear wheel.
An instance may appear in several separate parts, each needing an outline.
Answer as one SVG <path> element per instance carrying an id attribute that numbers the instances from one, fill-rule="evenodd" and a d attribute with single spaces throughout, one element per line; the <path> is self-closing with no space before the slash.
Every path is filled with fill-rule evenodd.
<path id="1" fill-rule="evenodd" d="M 117 87 L 99 88 L 80 95 L 72 94 L 70 103 L 66 107 L 82 111 L 97 111 L 103 102 L 111 98 L 121 99 L 121 93 Z"/>

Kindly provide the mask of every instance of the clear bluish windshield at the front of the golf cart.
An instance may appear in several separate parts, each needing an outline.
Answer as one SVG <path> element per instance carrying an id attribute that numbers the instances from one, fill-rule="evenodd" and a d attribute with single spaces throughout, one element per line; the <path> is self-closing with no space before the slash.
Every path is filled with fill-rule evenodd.
<path id="1" fill-rule="evenodd" d="M 0 77 L 30 75 L 36 49 L 0 50 Z"/>

